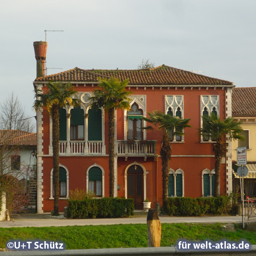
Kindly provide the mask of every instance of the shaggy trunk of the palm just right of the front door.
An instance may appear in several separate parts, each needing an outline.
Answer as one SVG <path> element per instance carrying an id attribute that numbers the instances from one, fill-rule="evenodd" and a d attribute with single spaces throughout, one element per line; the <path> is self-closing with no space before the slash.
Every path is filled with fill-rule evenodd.
<path id="1" fill-rule="evenodd" d="M 168 197 L 168 183 L 169 183 L 169 162 L 171 159 L 171 143 L 169 141 L 168 133 L 164 133 L 162 147 L 160 151 L 162 159 L 162 177 L 163 177 L 163 201 Z"/>

